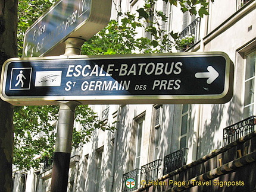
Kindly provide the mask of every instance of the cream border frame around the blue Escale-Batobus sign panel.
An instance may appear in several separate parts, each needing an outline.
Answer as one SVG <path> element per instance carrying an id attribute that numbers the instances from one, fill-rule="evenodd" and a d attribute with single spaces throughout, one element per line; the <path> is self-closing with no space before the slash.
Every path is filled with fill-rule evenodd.
<path id="1" fill-rule="evenodd" d="M 46 96 L 46 97 L 9 97 L 5 95 L 7 68 L 9 63 L 14 61 L 27 60 L 52 60 L 52 59 L 136 59 L 148 57 L 202 57 L 221 56 L 226 60 L 226 75 L 224 78 L 224 91 L 221 94 L 211 95 L 95 95 L 95 96 Z M 13 105 L 44 105 L 57 104 L 57 101 L 79 101 L 82 104 L 223 104 L 231 100 L 233 96 L 234 65 L 226 53 L 223 52 L 186 52 L 186 53 L 154 53 L 154 54 L 134 54 L 134 55 L 102 55 L 102 56 L 54 56 L 54 57 L 24 57 L 8 59 L 2 67 L 0 96 L 2 100 Z M 85 99 L 83 99 L 85 98 Z M 171 102 L 169 101 L 171 100 Z"/>

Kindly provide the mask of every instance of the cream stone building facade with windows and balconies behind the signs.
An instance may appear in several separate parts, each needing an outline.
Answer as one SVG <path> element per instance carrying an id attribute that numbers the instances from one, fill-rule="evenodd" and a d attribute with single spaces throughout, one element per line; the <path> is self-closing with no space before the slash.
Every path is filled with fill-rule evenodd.
<path id="1" fill-rule="evenodd" d="M 135 12 L 142 0 L 115 1 Z M 226 104 L 93 105 L 95 130 L 71 155 L 68 191 L 256 191 L 256 1 L 215 0 L 203 18 L 158 1 L 163 28 L 193 37 L 173 52 L 224 52 L 235 65 Z M 113 17 L 116 12 L 113 8 Z M 139 31 L 138 36 L 146 37 Z M 129 180 L 132 179 L 132 180 Z M 49 191 L 51 167 L 14 174 L 14 191 Z"/>

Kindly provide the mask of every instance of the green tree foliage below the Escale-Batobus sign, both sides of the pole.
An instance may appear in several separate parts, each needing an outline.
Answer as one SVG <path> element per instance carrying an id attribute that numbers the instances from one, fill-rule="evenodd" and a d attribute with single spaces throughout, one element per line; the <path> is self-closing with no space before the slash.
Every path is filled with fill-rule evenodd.
<path id="1" fill-rule="evenodd" d="M 14 165 L 20 169 L 38 168 L 54 153 L 58 105 L 15 107 L 14 110 Z M 76 108 L 76 119 L 81 127 L 73 131 L 73 147 L 89 141 L 101 121 L 88 105 Z M 106 127 L 103 127 L 105 130 Z M 108 130 L 113 127 L 107 127 Z"/>

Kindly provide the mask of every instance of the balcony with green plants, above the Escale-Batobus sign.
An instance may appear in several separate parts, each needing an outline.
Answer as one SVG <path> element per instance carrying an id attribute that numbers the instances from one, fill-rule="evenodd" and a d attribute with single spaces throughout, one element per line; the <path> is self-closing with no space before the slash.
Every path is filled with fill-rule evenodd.
<path id="1" fill-rule="evenodd" d="M 201 18 L 196 18 L 179 34 L 179 39 L 176 41 L 178 52 L 185 52 L 199 41 L 200 21 Z"/>

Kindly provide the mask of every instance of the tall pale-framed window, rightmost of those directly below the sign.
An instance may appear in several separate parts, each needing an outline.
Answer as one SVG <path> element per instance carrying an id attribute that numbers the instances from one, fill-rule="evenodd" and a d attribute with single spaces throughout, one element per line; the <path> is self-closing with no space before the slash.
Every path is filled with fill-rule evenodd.
<path id="1" fill-rule="evenodd" d="M 180 149 L 186 148 L 188 145 L 189 116 L 190 105 L 182 105 L 182 120 L 180 127 Z"/>

